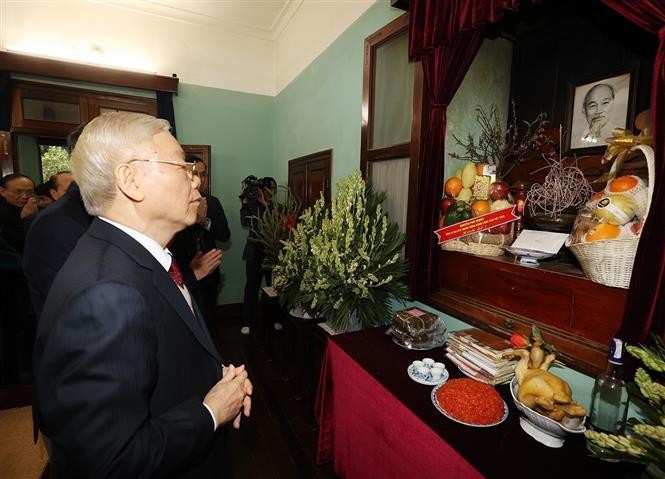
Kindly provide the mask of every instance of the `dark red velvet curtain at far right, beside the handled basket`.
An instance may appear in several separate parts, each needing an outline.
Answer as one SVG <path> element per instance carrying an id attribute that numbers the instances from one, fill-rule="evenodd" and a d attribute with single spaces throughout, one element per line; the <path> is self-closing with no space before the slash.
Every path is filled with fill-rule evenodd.
<path id="1" fill-rule="evenodd" d="M 658 34 L 651 79 L 655 176 L 651 209 L 637 249 L 619 337 L 644 342 L 649 332 L 665 339 L 665 3 L 663 0 L 603 0 L 626 19 Z"/>

